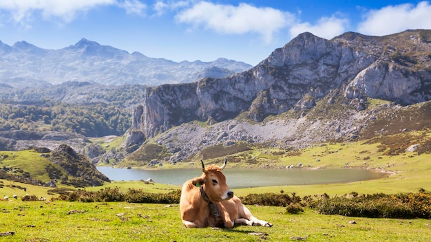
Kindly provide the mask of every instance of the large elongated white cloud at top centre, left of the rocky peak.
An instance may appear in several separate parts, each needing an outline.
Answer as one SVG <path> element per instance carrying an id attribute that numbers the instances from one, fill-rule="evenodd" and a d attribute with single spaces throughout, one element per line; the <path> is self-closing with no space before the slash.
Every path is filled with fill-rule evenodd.
<path id="1" fill-rule="evenodd" d="M 194 28 L 203 26 L 223 34 L 261 34 L 266 43 L 271 42 L 273 34 L 286 28 L 293 19 L 293 14 L 274 8 L 256 8 L 247 3 L 222 5 L 208 1 L 200 1 L 176 15 L 178 22 L 190 23 Z"/>

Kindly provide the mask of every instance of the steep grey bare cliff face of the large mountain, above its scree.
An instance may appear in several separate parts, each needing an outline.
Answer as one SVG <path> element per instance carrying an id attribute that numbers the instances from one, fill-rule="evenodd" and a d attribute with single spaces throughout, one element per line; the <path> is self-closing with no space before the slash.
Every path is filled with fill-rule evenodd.
<path id="1" fill-rule="evenodd" d="M 304 33 L 240 74 L 147 88 L 133 126 L 154 137 L 192 120 L 213 124 L 244 111 L 261 122 L 312 109 L 327 97 L 342 97 L 357 111 L 366 109 L 366 98 L 423 102 L 431 99 L 430 52 L 429 30 L 382 37 L 348 32 L 332 40 Z"/>

